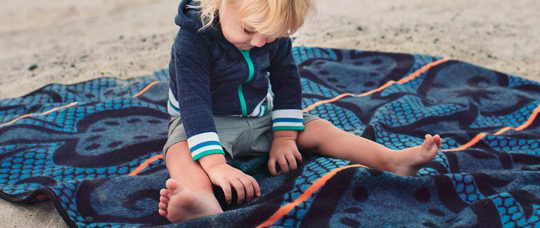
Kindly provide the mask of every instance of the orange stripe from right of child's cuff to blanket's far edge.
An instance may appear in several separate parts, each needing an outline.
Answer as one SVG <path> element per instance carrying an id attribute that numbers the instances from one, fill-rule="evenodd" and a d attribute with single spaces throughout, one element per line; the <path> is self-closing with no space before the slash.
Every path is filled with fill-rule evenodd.
<path id="1" fill-rule="evenodd" d="M 392 85 L 394 83 L 403 84 L 403 83 L 405 83 L 407 81 L 410 81 L 413 78 L 416 78 L 418 75 L 426 72 L 427 70 L 429 70 L 429 68 L 431 68 L 433 66 L 436 66 L 438 64 L 444 63 L 446 61 L 448 61 L 447 58 L 443 58 L 443 59 L 439 59 L 437 61 L 434 61 L 434 62 L 432 62 L 432 63 L 430 63 L 430 64 L 428 64 L 426 66 L 423 66 L 422 68 L 418 69 L 414 73 L 409 74 L 407 77 L 400 79 L 397 82 L 392 81 L 392 80 L 387 81 L 384 85 L 382 85 L 379 88 L 373 89 L 372 91 L 368 91 L 368 92 L 365 92 L 365 93 L 362 93 L 362 94 L 344 93 L 344 94 L 340 94 L 339 96 L 336 96 L 335 98 L 332 98 L 332 99 L 317 101 L 317 102 L 313 103 L 312 105 L 308 106 L 307 108 L 302 109 L 302 112 L 303 113 L 308 112 L 309 110 L 311 110 L 311 109 L 313 109 L 313 108 L 315 108 L 315 107 L 317 107 L 319 105 L 322 105 L 323 103 L 334 102 L 334 101 L 339 100 L 339 99 L 341 99 L 341 98 L 343 98 L 345 96 L 356 96 L 356 97 L 367 96 L 369 94 L 382 91 L 383 89 L 387 88 L 388 86 L 390 86 L 390 85 Z"/>

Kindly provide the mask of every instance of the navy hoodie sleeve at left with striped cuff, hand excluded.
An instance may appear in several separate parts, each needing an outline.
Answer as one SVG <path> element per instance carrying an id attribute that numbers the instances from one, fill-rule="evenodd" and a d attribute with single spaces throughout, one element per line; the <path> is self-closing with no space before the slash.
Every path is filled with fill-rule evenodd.
<path id="1" fill-rule="evenodd" d="M 173 44 L 169 71 L 193 160 L 222 154 L 212 115 L 210 44 L 198 33 L 180 29 Z M 171 86 L 172 87 L 172 86 Z"/>

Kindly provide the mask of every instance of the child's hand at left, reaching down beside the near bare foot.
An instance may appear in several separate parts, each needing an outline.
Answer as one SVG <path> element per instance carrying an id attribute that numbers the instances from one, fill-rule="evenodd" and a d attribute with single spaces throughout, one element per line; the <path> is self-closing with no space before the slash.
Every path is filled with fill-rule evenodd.
<path id="1" fill-rule="evenodd" d="M 261 196 L 261 189 L 255 178 L 244 174 L 244 172 L 233 168 L 231 165 L 216 165 L 208 170 L 206 174 L 208 174 L 213 184 L 223 189 L 228 204 L 232 200 L 231 186 L 237 191 L 238 203 L 242 203 L 244 199 L 246 199 L 246 202 L 251 201 L 253 195 Z"/>

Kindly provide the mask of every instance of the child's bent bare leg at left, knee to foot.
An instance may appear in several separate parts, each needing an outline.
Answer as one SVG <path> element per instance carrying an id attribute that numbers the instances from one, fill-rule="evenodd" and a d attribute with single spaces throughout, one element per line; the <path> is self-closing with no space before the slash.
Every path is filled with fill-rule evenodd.
<path id="1" fill-rule="evenodd" d="M 199 162 L 193 161 L 187 141 L 168 148 L 167 169 L 171 175 L 159 194 L 159 214 L 171 223 L 223 212 L 214 197 L 212 184 Z"/>

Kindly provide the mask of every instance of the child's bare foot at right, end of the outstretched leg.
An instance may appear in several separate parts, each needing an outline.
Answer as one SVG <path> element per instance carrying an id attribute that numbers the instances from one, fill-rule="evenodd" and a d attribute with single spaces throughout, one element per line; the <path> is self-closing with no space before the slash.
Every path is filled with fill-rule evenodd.
<path id="1" fill-rule="evenodd" d="M 442 146 L 441 136 L 426 135 L 421 146 L 395 151 L 388 171 L 402 176 L 414 176 L 423 164 L 431 162 Z"/>

